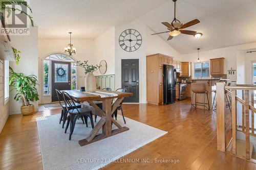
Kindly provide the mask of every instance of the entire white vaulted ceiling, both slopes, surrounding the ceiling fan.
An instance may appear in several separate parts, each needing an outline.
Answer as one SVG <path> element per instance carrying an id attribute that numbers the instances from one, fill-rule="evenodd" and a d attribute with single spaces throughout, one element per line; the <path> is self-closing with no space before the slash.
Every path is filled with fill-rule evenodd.
<path id="1" fill-rule="evenodd" d="M 132 21 L 155 32 L 165 31 L 163 21 L 174 18 L 172 0 L 33 0 L 33 17 L 39 38 L 95 38 L 113 26 Z M 255 0 L 178 0 L 177 19 L 182 23 L 198 18 L 201 22 L 186 30 L 203 33 L 200 39 L 179 35 L 166 41 L 180 54 L 256 41 Z M 155 35 L 164 40 L 168 33 Z"/>

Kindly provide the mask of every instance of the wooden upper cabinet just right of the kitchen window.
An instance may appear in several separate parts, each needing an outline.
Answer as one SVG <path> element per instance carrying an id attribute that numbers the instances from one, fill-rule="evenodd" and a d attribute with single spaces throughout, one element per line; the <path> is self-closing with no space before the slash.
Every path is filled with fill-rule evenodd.
<path id="1" fill-rule="evenodd" d="M 210 75 L 211 76 L 224 75 L 224 60 L 225 58 L 210 59 Z"/>

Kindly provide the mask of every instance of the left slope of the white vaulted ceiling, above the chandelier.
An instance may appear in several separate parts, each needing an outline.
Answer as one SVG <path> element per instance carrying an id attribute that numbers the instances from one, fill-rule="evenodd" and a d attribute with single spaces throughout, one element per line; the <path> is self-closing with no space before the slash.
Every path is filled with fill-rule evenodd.
<path id="1" fill-rule="evenodd" d="M 95 38 L 113 26 L 129 23 L 168 0 L 33 0 L 39 38 Z"/>

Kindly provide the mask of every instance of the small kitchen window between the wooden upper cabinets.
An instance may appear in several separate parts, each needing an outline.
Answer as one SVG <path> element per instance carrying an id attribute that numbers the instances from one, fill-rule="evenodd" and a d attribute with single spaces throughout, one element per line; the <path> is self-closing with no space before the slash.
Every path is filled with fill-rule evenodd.
<path id="1" fill-rule="evenodd" d="M 210 77 L 209 61 L 194 63 L 194 78 L 209 78 L 209 77 Z"/>

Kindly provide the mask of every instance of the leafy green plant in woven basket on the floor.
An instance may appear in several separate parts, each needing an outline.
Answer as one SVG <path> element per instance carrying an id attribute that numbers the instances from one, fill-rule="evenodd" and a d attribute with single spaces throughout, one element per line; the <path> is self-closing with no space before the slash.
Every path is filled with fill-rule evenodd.
<path id="1" fill-rule="evenodd" d="M 10 69 L 10 80 L 9 85 L 12 87 L 11 90 L 16 89 L 16 95 L 14 100 L 22 101 L 20 111 L 23 115 L 30 115 L 34 113 L 34 105 L 30 102 L 38 101 L 38 92 L 36 89 L 37 77 L 35 75 L 25 76 L 22 72 L 14 72 L 11 67 Z"/>

